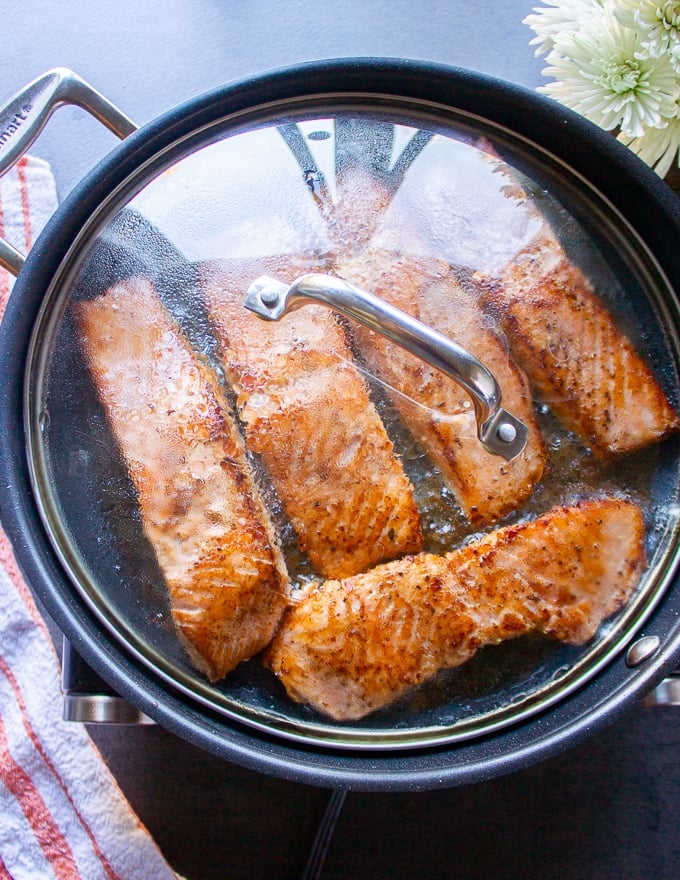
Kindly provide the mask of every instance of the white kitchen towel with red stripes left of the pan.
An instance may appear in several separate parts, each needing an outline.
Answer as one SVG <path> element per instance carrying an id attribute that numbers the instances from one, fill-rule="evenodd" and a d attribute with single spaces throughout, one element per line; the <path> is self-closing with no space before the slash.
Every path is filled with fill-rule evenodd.
<path id="1" fill-rule="evenodd" d="M 24 157 L 0 178 L 0 236 L 25 253 L 56 201 L 49 165 Z M 0 317 L 12 281 L 0 270 Z M 0 603 L 0 880 L 175 880 L 86 729 L 62 721 L 59 661 L 2 530 Z"/>

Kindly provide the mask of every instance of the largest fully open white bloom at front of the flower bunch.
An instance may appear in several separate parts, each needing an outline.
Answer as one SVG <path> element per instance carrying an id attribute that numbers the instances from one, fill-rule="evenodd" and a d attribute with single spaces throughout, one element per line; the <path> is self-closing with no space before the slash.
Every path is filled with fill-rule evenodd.
<path id="1" fill-rule="evenodd" d="M 638 32 L 625 27 L 609 3 L 591 8 L 578 30 L 555 34 L 548 61 L 543 73 L 556 82 L 539 91 L 607 131 L 642 137 L 675 113 L 678 84 L 670 59 L 642 57 Z"/>

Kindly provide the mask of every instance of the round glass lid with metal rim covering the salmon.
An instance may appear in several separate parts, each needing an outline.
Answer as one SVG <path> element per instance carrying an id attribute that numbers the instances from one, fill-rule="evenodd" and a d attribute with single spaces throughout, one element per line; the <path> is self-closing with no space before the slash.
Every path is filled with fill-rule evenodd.
<path id="1" fill-rule="evenodd" d="M 71 589 L 289 739 L 528 718 L 670 580 L 675 303 L 610 204 L 491 121 L 218 120 L 112 193 L 36 326 L 30 467 Z"/>

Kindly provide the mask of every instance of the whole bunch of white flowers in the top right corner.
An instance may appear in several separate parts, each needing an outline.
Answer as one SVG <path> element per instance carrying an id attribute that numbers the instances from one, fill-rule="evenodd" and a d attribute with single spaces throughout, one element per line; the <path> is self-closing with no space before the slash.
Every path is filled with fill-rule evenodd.
<path id="1" fill-rule="evenodd" d="M 680 0 L 545 0 L 524 19 L 547 54 L 539 87 L 661 177 L 680 166 Z"/>

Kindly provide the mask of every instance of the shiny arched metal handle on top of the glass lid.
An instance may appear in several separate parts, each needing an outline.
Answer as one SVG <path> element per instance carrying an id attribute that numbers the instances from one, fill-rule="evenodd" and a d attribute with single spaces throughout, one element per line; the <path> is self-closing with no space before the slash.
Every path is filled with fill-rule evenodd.
<path id="1" fill-rule="evenodd" d="M 461 346 L 389 303 L 334 275 L 302 275 L 290 286 L 268 276 L 250 286 L 247 309 L 268 321 L 306 303 L 320 303 L 391 339 L 461 385 L 472 398 L 477 436 L 491 453 L 508 461 L 524 450 L 529 431 L 524 422 L 501 407 L 501 390 L 493 374 Z"/>

